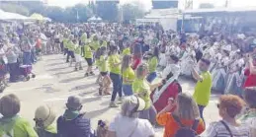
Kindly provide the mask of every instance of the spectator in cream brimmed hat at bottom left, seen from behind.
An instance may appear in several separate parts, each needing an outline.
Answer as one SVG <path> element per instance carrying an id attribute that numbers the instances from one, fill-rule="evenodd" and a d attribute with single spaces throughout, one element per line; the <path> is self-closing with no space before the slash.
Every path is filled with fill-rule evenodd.
<path id="1" fill-rule="evenodd" d="M 55 120 L 55 112 L 48 105 L 41 105 L 35 112 L 35 130 L 39 134 L 39 137 L 56 137 L 56 127 L 52 126 Z"/>

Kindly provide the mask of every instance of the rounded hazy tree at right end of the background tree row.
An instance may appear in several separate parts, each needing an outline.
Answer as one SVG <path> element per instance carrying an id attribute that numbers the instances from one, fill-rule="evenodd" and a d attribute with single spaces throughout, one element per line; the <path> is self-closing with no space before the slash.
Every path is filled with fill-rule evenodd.
<path id="1" fill-rule="evenodd" d="M 139 5 L 125 4 L 122 6 L 123 18 L 125 22 L 135 21 L 137 18 L 142 18 L 144 16 L 144 11 L 142 11 Z"/>

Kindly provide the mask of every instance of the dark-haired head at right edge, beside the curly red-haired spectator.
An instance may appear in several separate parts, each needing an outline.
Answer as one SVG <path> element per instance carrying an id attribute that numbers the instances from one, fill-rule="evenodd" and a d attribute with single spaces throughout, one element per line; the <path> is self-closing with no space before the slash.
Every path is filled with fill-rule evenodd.
<path id="1" fill-rule="evenodd" d="M 250 108 L 256 108 L 256 89 L 250 88 L 244 91 L 244 100 Z"/>

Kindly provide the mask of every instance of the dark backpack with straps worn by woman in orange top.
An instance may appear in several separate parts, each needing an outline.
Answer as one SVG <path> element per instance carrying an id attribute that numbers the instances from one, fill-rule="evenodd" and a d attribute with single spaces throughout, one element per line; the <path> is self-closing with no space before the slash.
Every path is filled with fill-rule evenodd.
<path id="1" fill-rule="evenodd" d="M 190 126 L 183 125 L 178 116 L 173 114 L 172 116 L 180 126 L 180 128 L 175 133 L 174 137 L 197 137 L 198 136 L 196 130 L 199 125 L 199 119 L 196 119 L 193 123 L 193 126 L 190 127 Z"/>

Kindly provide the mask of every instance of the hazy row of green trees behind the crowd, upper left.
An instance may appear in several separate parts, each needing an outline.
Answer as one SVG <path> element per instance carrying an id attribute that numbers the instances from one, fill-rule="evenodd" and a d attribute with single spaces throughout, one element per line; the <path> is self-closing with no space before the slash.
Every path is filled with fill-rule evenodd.
<path id="1" fill-rule="evenodd" d="M 0 1 L 0 9 L 6 12 L 18 13 L 31 16 L 34 13 L 42 14 L 56 22 L 87 22 L 92 16 L 101 17 L 103 20 L 117 22 L 119 17 L 119 7 L 117 1 L 90 1 L 88 5 L 77 4 L 65 9 L 55 6 L 46 6 L 42 1 Z M 122 6 L 123 19 L 134 21 L 141 18 L 144 12 L 138 4 L 125 4 Z M 78 14 L 78 19 L 77 19 Z"/>

